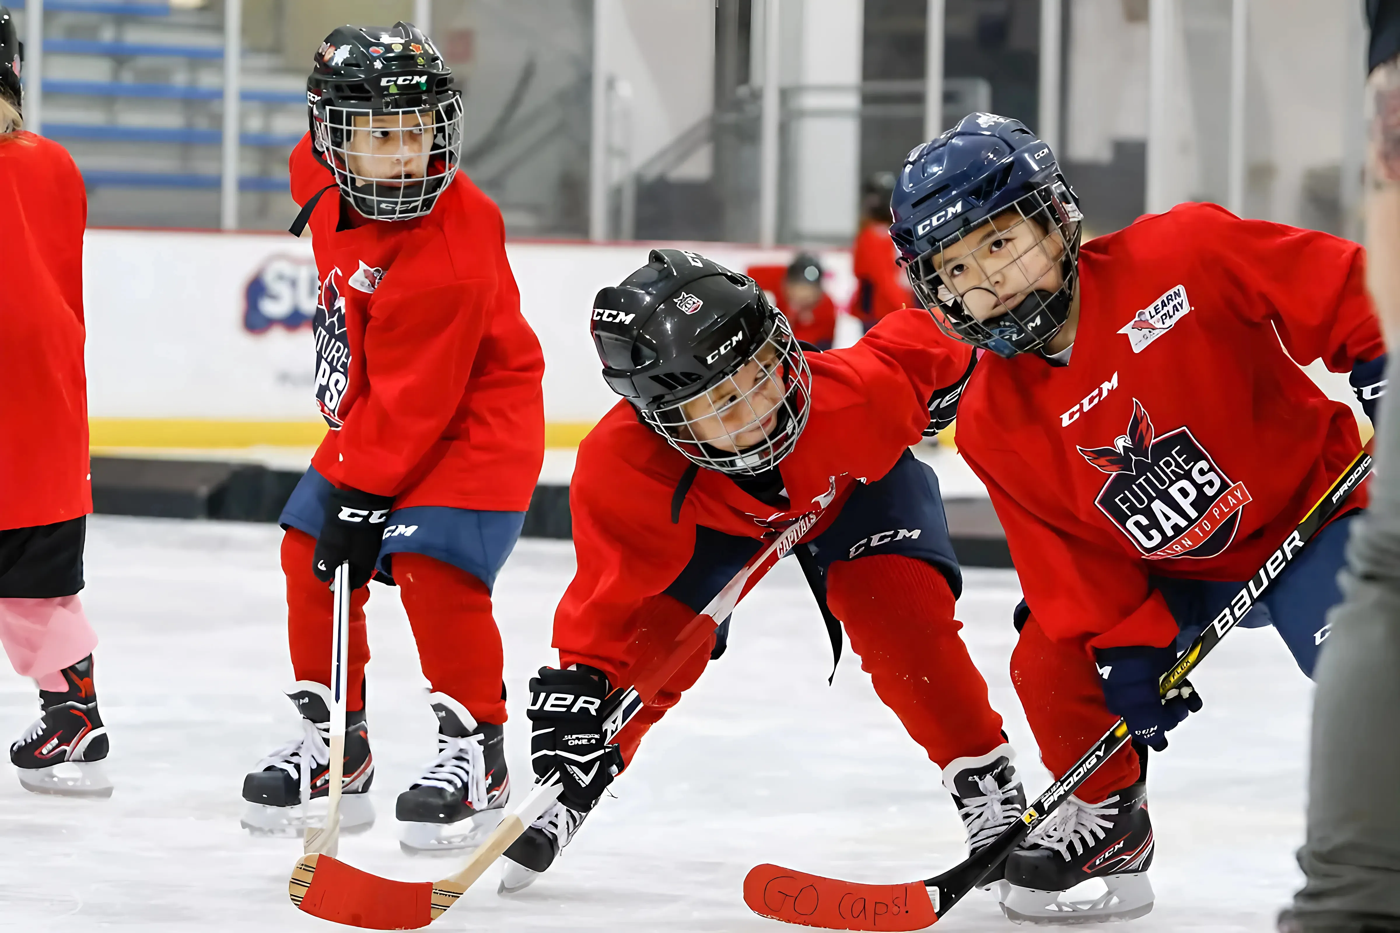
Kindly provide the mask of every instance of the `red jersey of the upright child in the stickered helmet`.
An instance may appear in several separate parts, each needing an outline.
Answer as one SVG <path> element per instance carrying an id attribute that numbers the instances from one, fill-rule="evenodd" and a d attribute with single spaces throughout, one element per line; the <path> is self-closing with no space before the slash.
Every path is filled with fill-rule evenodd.
<path id="1" fill-rule="evenodd" d="M 291 154 L 293 197 L 305 204 L 328 185 L 307 136 Z M 332 189 L 309 228 L 316 404 L 330 425 L 312 466 L 398 508 L 529 508 L 545 358 L 496 204 L 458 172 L 426 217 L 367 221 Z"/>

